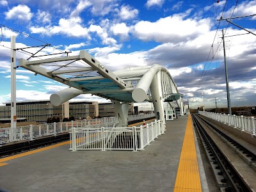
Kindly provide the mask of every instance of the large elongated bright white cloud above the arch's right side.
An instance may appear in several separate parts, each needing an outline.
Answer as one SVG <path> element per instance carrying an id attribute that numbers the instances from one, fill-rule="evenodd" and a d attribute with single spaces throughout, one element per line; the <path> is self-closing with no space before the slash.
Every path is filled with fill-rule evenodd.
<path id="1" fill-rule="evenodd" d="M 175 43 L 194 39 L 211 29 L 210 19 L 184 19 L 184 16 L 173 15 L 172 17 L 161 18 L 156 22 L 141 20 L 134 26 L 132 33 L 145 41 Z"/>

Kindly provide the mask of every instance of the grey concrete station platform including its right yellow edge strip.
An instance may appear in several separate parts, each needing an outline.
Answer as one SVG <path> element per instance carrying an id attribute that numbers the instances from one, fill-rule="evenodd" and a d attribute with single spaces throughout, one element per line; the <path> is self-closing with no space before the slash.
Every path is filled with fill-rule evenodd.
<path id="1" fill-rule="evenodd" d="M 188 115 L 166 121 L 166 133 L 137 152 L 69 148 L 67 141 L 0 159 L 0 189 L 209 191 Z"/>

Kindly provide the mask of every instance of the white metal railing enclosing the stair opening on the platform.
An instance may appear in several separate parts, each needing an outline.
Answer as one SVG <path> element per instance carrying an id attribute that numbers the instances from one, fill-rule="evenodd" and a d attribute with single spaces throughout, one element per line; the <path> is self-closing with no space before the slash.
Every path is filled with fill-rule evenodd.
<path id="1" fill-rule="evenodd" d="M 164 132 L 163 120 L 140 127 L 73 127 L 70 150 L 143 150 Z"/>

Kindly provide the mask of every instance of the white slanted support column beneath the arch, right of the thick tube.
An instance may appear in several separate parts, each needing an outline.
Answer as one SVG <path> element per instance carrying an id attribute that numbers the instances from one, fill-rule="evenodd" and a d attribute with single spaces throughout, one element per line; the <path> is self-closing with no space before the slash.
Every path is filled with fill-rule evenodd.
<path id="1" fill-rule="evenodd" d="M 152 102 L 154 104 L 154 109 L 156 113 L 157 120 L 164 120 L 164 105 L 163 105 L 163 92 L 161 86 L 161 73 L 158 72 L 150 85 L 150 92 L 152 96 Z"/>

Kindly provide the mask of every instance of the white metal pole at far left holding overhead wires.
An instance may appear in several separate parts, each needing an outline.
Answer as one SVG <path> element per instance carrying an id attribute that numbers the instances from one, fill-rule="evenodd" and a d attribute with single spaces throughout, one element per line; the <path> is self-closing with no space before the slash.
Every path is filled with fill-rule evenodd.
<path id="1" fill-rule="evenodd" d="M 11 37 L 11 127 L 12 127 L 12 138 L 16 138 L 16 134 L 13 129 L 16 127 L 16 40 L 15 36 Z"/>

